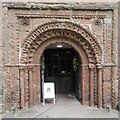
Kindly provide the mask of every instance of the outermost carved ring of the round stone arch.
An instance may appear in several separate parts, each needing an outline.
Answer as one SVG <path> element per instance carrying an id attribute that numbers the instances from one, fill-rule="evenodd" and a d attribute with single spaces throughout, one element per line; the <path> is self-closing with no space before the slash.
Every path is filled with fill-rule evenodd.
<path id="1" fill-rule="evenodd" d="M 98 41 L 96 40 L 96 38 L 94 37 L 94 35 L 92 35 L 87 29 L 83 28 L 81 25 L 78 25 L 76 23 L 71 23 L 68 21 L 54 21 L 54 22 L 49 22 L 49 23 L 45 23 L 41 26 L 38 26 L 35 30 L 33 30 L 33 32 L 31 32 L 27 38 L 25 39 L 22 48 L 22 62 L 25 63 L 27 62 L 27 56 L 28 56 L 28 51 L 31 49 L 33 52 L 35 52 L 35 49 L 37 49 L 37 47 L 39 46 L 39 44 L 41 44 L 42 42 L 44 42 L 45 40 L 49 39 L 49 35 L 45 36 L 45 33 L 47 33 L 48 31 L 54 31 L 54 30 L 65 30 L 65 31 L 71 31 L 74 32 L 78 35 L 80 35 L 81 37 L 84 38 L 84 41 L 90 45 L 91 49 L 93 50 L 93 54 L 95 55 L 95 59 L 96 59 L 96 63 L 97 64 L 101 64 L 101 48 L 100 45 L 98 43 Z M 48 32 L 50 33 L 50 32 Z M 52 37 L 54 37 L 54 35 L 56 36 L 56 34 L 53 34 Z M 64 36 L 64 34 L 63 34 Z M 47 37 L 47 38 L 46 38 Z M 51 35 L 50 35 L 51 37 Z M 39 38 L 39 41 L 37 41 Z M 37 41 L 37 42 L 35 42 Z M 78 41 L 80 42 L 80 40 L 78 39 Z M 84 42 L 84 44 L 85 44 Z M 84 46 L 84 45 L 83 45 Z M 86 48 L 86 53 L 90 53 L 90 51 L 88 50 L 89 47 L 85 46 Z M 91 54 L 88 54 L 88 56 L 90 57 Z M 30 56 L 32 58 L 32 54 Z"/>

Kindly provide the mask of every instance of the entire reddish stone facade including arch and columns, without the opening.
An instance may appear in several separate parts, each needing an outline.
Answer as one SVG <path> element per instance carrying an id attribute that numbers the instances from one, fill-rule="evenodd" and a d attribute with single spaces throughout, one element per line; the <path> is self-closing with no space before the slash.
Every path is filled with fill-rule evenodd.
<path id="1" fill-rule="evenodd" d="M 6 111 L 11 109 L 13 91 L 16 91 L 17 108 L 40 104 L 39 59 L 44 50 L 56 42 L 71 45 L 82 58 L 82 103 L 115 108 L 116 6 L 112 3 L 62 4 L 62 7 L 61 4 L 4 3 L 0 33 L 4 43 Z"/>

